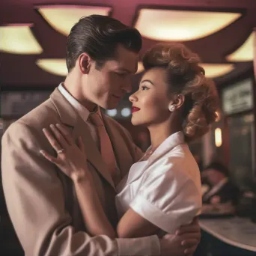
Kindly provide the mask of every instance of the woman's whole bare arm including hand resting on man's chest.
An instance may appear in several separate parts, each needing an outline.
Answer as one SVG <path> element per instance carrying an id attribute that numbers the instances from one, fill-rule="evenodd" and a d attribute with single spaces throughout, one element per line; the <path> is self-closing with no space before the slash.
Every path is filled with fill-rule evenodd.
<path id="1" fill-rule="evenodd" d="M 73 180 L 85 225 L 91 235 L 106 234 L 109 237 L 115 237 L 116 232 L 103 211 L 100 198 L 94 188 L 91 173 L 88 171 L 82 140 L 79 140 L 78 147 L 69 131 L 63 126 L 51 126 L 51 129 L 54 136 L 48 129 L 44 129 L 44 133 L 52 147 L 60 153 L 57 157 L 53 157 L 44 150 L 40 152 Z M 61 150 L 61 148 L 64 148 L 64 150 Z M 193 225 L 192 228 L 194 228 Z M 156 225 L 153 225 L 130 208 L 119 222 L 117 233 L 118 237 L 146 237 L 150 234 L 156 234 L 158 230 L 159 228 Z"/>

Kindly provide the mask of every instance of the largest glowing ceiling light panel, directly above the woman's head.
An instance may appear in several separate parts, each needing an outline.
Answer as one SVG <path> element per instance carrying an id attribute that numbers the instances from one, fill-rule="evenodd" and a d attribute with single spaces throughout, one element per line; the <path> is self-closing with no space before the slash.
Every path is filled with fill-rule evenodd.
<path id="1" fill-rule="evenodd" d="M 135 28 L 153 40 L 196 40 L 225 28 L 240 16 L 241 13 L 141 9 Z"/>

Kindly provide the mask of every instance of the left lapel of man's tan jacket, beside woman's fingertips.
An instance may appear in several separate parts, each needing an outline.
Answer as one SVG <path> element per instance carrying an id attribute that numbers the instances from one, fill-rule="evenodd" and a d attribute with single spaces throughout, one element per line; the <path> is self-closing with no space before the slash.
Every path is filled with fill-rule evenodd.
<path id="1" fill-rule="evenodd" d="M 91 132 L 88 125 L 82 121 L 82 118 L 78 115 L 73 106 L 66 100 L 66 98 L 58 91 L 58 88 L 50 96 L 52 103 L 57 109 L 58 115 L 61 118 L 61 122 L 69 127 L 73 127 L 73 138 L 77 139 L 82 137 L 82 141 L 85 144 L 85 153 L 89 162 L 94 165 L 94 168 L 100 172 L 100 174 L 109 182 L 109 184 L 115 189 L 115 184 L 111 175 L 107 171 L 107 167 L 103 162 L 100 151 L 91 137 Z"/>

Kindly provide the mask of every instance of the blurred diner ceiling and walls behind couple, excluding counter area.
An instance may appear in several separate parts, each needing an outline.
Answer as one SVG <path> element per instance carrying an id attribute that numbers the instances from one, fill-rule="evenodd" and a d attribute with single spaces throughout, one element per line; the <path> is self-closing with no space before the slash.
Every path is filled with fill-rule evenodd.
<path id="1" fill-rule="evenodd" d="M 1 0 L 0 138 L 13 121 L 40 105 L 64 81 L 67 34 L 74 22 L 92 13 L 109 15 L 138 28 L 143 37 L 132 92 L 137 90 L 143 75 L 141 57 L 155 43 L 182 42 L 201 56 L 206 76 L 216 82 L 221 106 L 210 132 L 189 147 L 201 171 L 212 162 L 228 168 L 228 175 L 240 191 L 236 214 L 256 221 L 251 210 L 252 201 L 256 201 L 253 65 L 256 1 L 78 0 L 75 3 Z M 146 150 L 150 145 L 148 132 L 130 124 L 128 97 L 106 114 L 124 125 L 135 143 Z M 0 216 L 0 249 L 5 248 L 10 255 L 22 255 L 2 192 Z"/>

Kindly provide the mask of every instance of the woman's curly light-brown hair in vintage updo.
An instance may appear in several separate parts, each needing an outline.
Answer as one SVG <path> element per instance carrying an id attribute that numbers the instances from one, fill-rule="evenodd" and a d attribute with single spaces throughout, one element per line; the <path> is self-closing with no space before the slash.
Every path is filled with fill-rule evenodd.
<path id="1" fill-rule="evenodd" d="M 216 121 L 219 97 L 211 79 L 204 76 L 197 54 L 181 43 L 156 44 L 143 58 L 145 70 L 163 67 L 171 94 L 183 94 L 183 132 L 191 141 L 208 132 Z"/>

